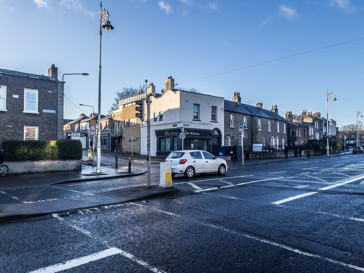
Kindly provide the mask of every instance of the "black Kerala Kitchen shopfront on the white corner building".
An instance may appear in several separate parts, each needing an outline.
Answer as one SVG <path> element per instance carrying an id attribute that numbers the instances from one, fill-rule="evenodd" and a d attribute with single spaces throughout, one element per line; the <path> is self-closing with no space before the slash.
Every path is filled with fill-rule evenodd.
<path id="1" fill-rule="evenodd" d="M 157 137 L 157 157 L 167 157 L 171 151 L 182 150 L 181 129 L 155 131 Z M 212 146 L 221 146 L 221 131 L 218 128 L 203 130 L 186 128 L 183 150 L 211 151 Z"/>

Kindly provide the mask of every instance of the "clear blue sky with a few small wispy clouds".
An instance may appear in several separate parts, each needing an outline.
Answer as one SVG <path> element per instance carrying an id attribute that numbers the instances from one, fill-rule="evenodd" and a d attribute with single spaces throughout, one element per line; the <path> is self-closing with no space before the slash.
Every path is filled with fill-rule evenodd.
<path id="1" fill-rule="evenodd" d="M 160 92 L 168 76 L 228 100 L 238 91 L 243 103 L 277 105 L 281 116 L 307 110 L 326 118 L 328 89 L 337 98 L 329 99 L 329 119 L 339 127 L 364 113 L 363 0 L 102 5 L 115 27 L 102 35 L 102 114 L 123 86 L 147 79 Z M 60 80 L 87 72 L 64 76 L 64 118 L 92 112 L 80 103 L 97 111 L 99 9 L 95 0 L 0 0 L 0 68 L 48 75 L 55 64 Z"/>

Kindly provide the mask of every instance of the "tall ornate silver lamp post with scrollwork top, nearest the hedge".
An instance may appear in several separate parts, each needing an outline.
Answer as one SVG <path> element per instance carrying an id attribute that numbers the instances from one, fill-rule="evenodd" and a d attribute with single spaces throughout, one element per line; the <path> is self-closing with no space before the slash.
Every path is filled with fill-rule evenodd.
<path id="1" fill-rule="evenodd" d="M 100 130 L 100 124 L 101 124 L 101 37 L 102 37 L 102 28 L 106 30 L 106 32 L 110 32 L 114 27 L 111 25 L 109 21 L 109 12 L 104 9 L 102 10 L 102 4 L 100 2 L 100 45 L 99 45 L 99 112 L 98 112 L 98 124 L 99 124 L 99 130 L 97 134 L 97 165 L 96 165 L 96 173 L 101 173 L 101 130 Z"/>

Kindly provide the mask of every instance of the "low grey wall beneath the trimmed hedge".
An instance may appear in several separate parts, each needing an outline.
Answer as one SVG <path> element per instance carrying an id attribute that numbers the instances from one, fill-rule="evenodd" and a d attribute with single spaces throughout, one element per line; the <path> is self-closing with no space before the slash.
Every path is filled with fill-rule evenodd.
<path id="1" fill-rule="evenodd" d="M 4 162 L 9 167 L 8 174 L 45 173 L 50 171 L 81 170 L 82 160 L 41 160 Z"/>

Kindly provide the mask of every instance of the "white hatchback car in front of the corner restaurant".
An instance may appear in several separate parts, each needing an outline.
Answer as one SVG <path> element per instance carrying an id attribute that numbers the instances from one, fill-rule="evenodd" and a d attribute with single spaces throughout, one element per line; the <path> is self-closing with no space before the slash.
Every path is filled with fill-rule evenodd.
<path id="1" fill-rule="evenodd" d="M 225 160 L 200 150 L 173 151 L 166 162 L 171 162 L 172 176 L 184 174 L 187 178 L 193 178 L 197 173 L 217 172 L 222 175 L 227 171 Z"/>

